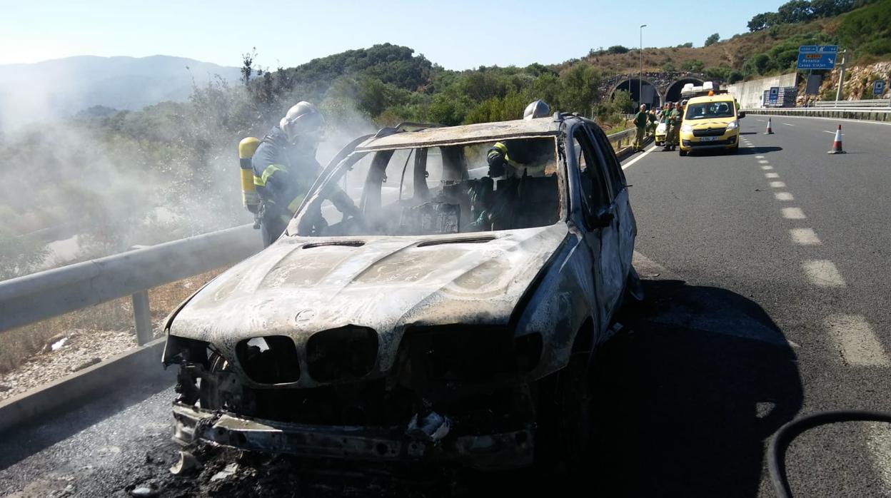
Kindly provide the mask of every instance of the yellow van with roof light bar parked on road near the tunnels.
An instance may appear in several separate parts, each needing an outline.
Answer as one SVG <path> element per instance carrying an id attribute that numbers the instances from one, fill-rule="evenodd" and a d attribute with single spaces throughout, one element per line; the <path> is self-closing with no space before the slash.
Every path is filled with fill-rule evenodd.
<path id="1" fill-rule="evenodd" d="M 730 94 L 691 98 L 683 111 L 680 154 L 708 149 L 736 152 L 740 148 L 740 118 L 745 117 Z"/>

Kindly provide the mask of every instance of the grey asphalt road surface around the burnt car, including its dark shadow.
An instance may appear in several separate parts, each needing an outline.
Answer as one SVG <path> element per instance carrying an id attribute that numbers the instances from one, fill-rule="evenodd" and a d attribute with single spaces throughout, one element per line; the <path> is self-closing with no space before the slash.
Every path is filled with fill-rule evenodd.
<path id="1" fill-rule="evenodd" d="M 777 118 L 763 135 L 761 118 L 742 120 L 736 155 L 625 160 L 648 298 L 625 308 L 625 331 L 601 351 L 601 450 L 587 476 L 556 466 L 391 479 L 241 457 L 235 477 L 208 485 L 233 458 L 208 454 L 199 478 L 174 478 L 173 393 L 143 382 L 4 435 L 0 494 L 772 496 L 764 450 L 783 423 L 891 410 L 891 127 L 843 122 L 848 153 L 829 156 L 838 122 Z M 814 429 L 788 461 L 797 496 L 891 496 L 887 427 Z"/>

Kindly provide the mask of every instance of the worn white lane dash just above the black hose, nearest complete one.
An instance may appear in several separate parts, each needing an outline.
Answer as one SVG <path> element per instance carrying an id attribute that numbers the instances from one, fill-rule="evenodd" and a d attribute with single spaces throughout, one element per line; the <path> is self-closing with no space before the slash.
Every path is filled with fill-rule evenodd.
<path id="1" fill-rule="evenodd" d="M 823 321 L 830 338 L 851 366 L 891 366 L 870 324 L 859 314 L 831 314 Z"/>

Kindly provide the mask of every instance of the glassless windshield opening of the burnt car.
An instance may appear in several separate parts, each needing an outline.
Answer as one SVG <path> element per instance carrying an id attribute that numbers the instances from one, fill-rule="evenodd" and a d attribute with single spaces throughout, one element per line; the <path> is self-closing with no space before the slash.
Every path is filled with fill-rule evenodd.
<path id="1" fill-rule="evenodd" d="M 502 143 L 508 167 L 500 176 L 491 176 L 487 163 L 493 142 L 372 151 L 361 160 L 350 156 L 310 194 L 288 233 L 427 235 L 560 221 L 555 138 Z M 341 191 L 356 203 L 356 216 L 342 216 L 331 204 Z"/>

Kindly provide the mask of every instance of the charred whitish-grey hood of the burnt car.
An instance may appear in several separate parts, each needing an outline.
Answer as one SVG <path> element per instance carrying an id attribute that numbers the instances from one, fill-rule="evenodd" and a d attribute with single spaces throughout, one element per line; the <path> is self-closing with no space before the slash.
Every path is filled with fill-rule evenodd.
<path id="1" fill-rule="evenodd" d="M 299 343 L 350 324 L 382 335 L 406 325 L 506 324 L 567 234 L 558 223 L 451 236 L 285 237 L 200 290 L 170 333 L 232 347 L 266 335 Z"/>

